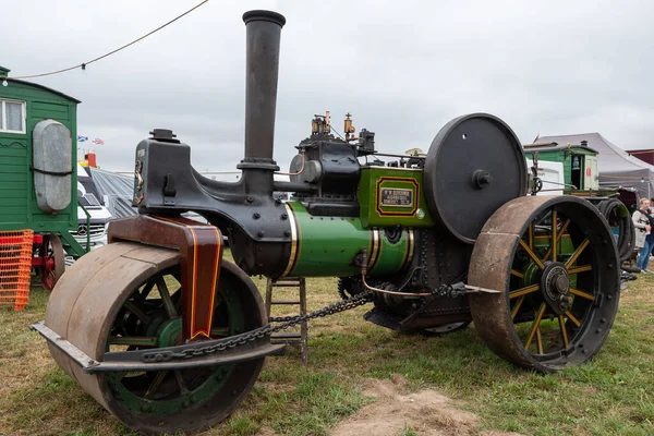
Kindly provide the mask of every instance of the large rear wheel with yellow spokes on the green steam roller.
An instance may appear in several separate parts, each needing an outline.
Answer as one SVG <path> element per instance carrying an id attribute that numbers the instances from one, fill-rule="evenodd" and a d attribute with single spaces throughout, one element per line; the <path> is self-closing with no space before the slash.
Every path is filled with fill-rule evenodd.
<path id="1" fill-rule="evenodd" d="M 474 246 L 469 283 L 481 338 L 499 356 L 552 372 L 592 359 L 619 300 L 619 258 L 598 210 L 571 196 L 521 197 L 500 207 Z"/>

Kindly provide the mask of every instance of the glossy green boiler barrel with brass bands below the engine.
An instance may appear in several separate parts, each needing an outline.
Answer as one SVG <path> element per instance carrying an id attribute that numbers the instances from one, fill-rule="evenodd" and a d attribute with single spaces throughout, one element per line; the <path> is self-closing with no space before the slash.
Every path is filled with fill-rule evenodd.
<path id="1" fill-rule="evenodd" d="M 354 261 L 363 249 L 370 276 L 396 274 L 411 263 L 411 228 L 364 229 L 360 218 L 312 216 L 300 202 L 289 202 L 286 208 L 292 242 L 282 277 L 356 276 L 361 267 Z"/>

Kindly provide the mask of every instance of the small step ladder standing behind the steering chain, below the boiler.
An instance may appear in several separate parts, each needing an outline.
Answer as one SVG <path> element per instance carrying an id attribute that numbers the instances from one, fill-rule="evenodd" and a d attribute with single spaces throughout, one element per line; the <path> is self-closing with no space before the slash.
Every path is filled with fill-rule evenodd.
<path id="1" fill-rule="evenodd" d="M 298 288 L 299 300 L 272 300 L 272 288 Z M 286 315 L 286 316 L 270 316 L 270 307 L 274 305 L 296 305 L 300 306 L 299 315 L 306 315 L 306 286 L 304 277 L 292 277 L 284 279 L 268 279 L 266 283 L 266 315 L 268 315 L 268 322 L 270 324 L 274 323 L 283 323 L 289 320 L 296 315 Z M 300 332 L 281 332 L 275 334 L 270 336 L 271 343 L 284 343 L 287 346 L 300 346 L 300 350 L 302 353 L 302 365 L 306 366 L 308 349 L 306 343 L 306 337 L 308 334 L 308 328 L 306 326 L 306 320 L 300 323 Z"/>

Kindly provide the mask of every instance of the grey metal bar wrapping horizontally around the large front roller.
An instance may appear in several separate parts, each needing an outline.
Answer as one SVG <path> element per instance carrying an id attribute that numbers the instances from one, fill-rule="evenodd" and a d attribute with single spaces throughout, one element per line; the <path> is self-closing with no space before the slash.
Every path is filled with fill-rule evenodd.
<path id="1" fill-rule="evenodd" d="M 268 327 L 268 325 L 264 326 Z M 43 322 L 31 326 L 59 350 L 68 354 L 77 363 L 85 373 L 118 372 L 118 371 L 164 371 L 183 370 L 197 366 L 225 365 L 264 358 L 269 354 L 283 352 L 283 344 L 271 344 L 269 337 L 249 340 L 244 344 L 221 351 L 221 344 L 233 343 L 240 337 L 251 332 L 230 336 L 225 339 L 194 341 L 183 346 L 157 348 L 154 350 L 120 351 L 105 354 L 105 360 L 98 362 L 85 352 L 62 338 L 55 330 L 48 328 Z"/>

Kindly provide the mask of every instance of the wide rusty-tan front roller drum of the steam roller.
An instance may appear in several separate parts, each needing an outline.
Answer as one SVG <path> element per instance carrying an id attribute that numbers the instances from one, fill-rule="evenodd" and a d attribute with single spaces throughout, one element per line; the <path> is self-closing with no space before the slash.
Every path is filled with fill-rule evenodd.
<path id="1" fill-rule="evenodd" d="M 177 251 L 118 242 L 77 261 L 61 278 L 46 325 L 89 358 L 183 343 L 180 259 Z M 243 271 L 222 262 L 211 339 L 242 334 L 266 322 L 258 290 Z M 227 417 L 254 385 L 264 358 L 166 371 L 87 374 L 58 348 L 63 371 L 129 427 L 146 434 L 194 432 Z"/>

